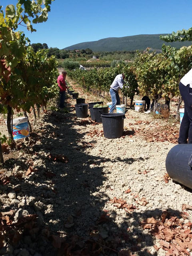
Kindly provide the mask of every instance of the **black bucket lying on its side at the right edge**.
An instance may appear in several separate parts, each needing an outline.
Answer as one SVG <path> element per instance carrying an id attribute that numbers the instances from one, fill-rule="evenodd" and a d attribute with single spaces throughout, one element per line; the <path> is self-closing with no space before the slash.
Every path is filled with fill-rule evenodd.
<path id="1" fill-rule="evenodd" d="M 178 144 L 168 152 L 166 171 L 172 180 L 192 189 L 192 144 Z"/>

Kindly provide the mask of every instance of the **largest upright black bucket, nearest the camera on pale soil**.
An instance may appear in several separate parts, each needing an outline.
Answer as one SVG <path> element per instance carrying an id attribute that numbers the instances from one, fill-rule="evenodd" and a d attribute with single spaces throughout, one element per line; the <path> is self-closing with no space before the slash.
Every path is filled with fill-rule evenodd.
<path id="1" fill-rule="evenodd" d="M 105 138 L 114 139 L 120 138 L 123 135 L 125 114 L 102 114 L 101 118 Z"/>

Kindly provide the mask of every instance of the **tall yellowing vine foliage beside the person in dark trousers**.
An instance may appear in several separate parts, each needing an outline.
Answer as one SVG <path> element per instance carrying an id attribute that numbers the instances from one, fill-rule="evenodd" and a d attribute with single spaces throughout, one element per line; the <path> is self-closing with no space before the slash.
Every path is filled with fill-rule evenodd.
<path id="1" fill-rule="evenodd" d="M 192 68 L 192 46 L 179 50 L 163 45 L 162 53 L 138 53 L 134 61 L 139 92 L 158 100 L 179 96 L 180 76 Z"/>

